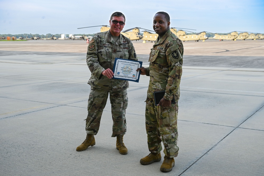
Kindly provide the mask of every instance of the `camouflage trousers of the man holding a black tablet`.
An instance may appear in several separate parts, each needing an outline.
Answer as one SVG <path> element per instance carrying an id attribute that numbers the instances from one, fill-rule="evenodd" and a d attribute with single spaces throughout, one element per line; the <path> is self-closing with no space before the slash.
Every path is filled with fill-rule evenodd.
<path id="1" fill-rule="evenodd" d="M 155 106 L 152 98 L 146 100 L 146 131 L 150 152 L 158 153 L 164 145 L 164 154 L 169 157 L 178 156 L 178 102 L 170 107 Z"/>

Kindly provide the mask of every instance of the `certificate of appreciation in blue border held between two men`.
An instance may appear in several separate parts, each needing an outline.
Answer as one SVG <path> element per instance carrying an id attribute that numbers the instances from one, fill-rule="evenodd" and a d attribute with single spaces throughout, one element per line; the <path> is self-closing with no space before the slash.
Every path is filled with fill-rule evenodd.
<path id="1" fill-rule="evenodd" d="M 140 67 L 142 67 L 141 61 L 115 58 L 113 78 L 138 82 L 141 71 L 136 70 Z"/>

